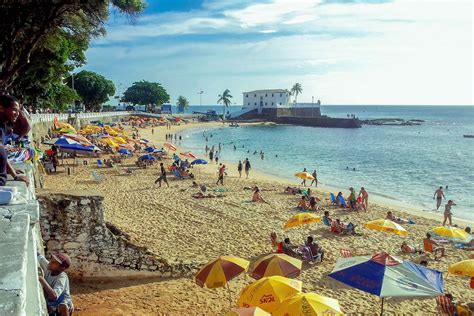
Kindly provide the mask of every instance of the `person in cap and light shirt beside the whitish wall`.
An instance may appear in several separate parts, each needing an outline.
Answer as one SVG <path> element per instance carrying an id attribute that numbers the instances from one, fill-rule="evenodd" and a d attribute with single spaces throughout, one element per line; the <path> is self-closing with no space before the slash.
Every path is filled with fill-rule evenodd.
<path id="1" fill-rule="evenodd" d="M 69 291 L 69 278 L 64 271 L 71 265 L 71 259 L 66 254 L 58 253 L 52 255 L 51 261 L 48 261 L 38 254 L 38 262 L 44 272 L 44 276 L 39 277 L 39 282 L 44 290 L 48 313 L 70 315 L 73 304 Z"/>

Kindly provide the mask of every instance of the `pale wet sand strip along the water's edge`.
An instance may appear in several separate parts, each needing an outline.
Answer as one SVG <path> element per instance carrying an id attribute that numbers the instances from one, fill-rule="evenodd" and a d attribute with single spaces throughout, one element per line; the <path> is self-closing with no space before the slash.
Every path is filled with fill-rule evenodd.
<path id="1" fill-rule="evenodd" d="M 188 126 L 188 125 L 178 126 L 175 130 L 175 133 L 179 135 L 179 134 L 182 134 L 184 131 L 188 131 L 188 130 L 194 130 L 194 129 L 196 129 L 196 130 L 201 129 L 202 130 L 206 127 L 205 124 L 210 124 L 211 128 L 224 127 L 221 122 L 207 122 L 207 123 L 198 123 L 198 124 L 199 125 L 202 124 L 202 126 Z M 258 122 L 258 123 L 239 123 L 239 124 L 241 124 L 241 125 L 261 125 L 261 124 L 264 124 L 264 123 Z M 228 127 L 228 126 L 226 126 L 226 127 Z M 204 145 L 205 141 L 203 140 L 202 143 Z M 189 148 L 186 148 L 186 147 L 183 147 L 183 146 L 177 145 L 177 144 L 175 144 L 175 145 L 178 148 L 177 151 L 179 151 L 180 149 L 182 151 L 189 151 Z M 205 159 L 208 160 L 207 157 Z M 223 164 L 225 164 L 227 166 L 234 166 L 234 165 L 237 165 L 238 161 L 229 161 L 229 160 L 224 159 L 224 160 L 220 160 L 220 162 L 222 162 Z M 207 166 L 215 166 L 215 164 L 208 164 Z M 230 170 L 232 170 L 231 171 L 232 172 L 231 177 L 235 177 L 235 175 L 234 175 L 235 170 L 233 170 L 233 169 L 230 169 Z M 208 170 L 208 171 L 211 174 L 214 173 L 210 170 Z M 227 172 L 229 173 L 229 169 L 228 169 Z M 291 181 L 290 178 L 277 176 L 277 175 L 271 174 L 271 173 L 266 172 L 266 171 L 252 169 L 251 174 L 256 176 L 256 177 L 251 178 L 251 179 L 254 179 L 256 181 L 258 181 L 260 179 L 261 180 L 270 180 L 270 181 L 275 181 L 275 182 L 280 183 L 280 184 L 285 185 L 285 186 L 291 185 L 291 186 L 302 187 L 299 183 L 295 183 L 295 181 Z M 306 188 L 309 188 L 309 186 L 307 186 Z M 337 186 L 325 185 L 325 184 L 319 184 L 319 183 L 318 183 L 318 187 L 311 187 L 311 188 L 315 188 L 315 189 L 318 189 L 319 191 L 322 191 L 322 193 L 324 193 L 326 196 L 329 195 L 329 192 L 343 192 L 344 193 L 344 192 L 348 191 L 348 189 L 341 189 L 340 187 L 337 187 Z M 356 190 L 356 192 L 357 191 L 358 190 Z M 442 223 L 442 221 L 443 221 L 442 207 L 440 207 L 441 211 L 439 211 L 438 213 L 433 212 L 433 211 L 426 211 L 421 206 L 413 205 L 411 203 L 403 202 L 403 201 L 400 201 L 400 200 L 397 200 L 397 199 L 391 199 L 391 198 L 383 197 L 383 196 L 380 196 L 376 193 L 370 193 L 370 192 L 369 192 L 369 203 L 370 203 L 369 207 L 372 203 L 374 203 L 374 204 L 382 206 L 382 207 L 390 208 L 392 211 L 405 213 L 405 214 L 409 214 L 409 215 L 414 215 L 414 216 L 420 216 L 420 217 L 424 217 L 426 219 L 439 221 L 440 223 Z M 434 203 L 434 200 L 433 200 L 433 203 Z M 460 217 L 456 217 L 456 216 L 453 216 L 452 218 L 453 218 L 453 222 L 456 222 L 455 224 L 462 225 L 462 226 L 474 226 L 474 221 L 472 221 L 472 220 L 464 219 L 464 218 L 460 218 Z"/>

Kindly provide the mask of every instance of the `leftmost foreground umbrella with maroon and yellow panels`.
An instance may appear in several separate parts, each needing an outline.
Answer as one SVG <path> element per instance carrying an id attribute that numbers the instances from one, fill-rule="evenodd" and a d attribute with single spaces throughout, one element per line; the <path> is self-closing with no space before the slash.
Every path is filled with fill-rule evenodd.
<path id="1" fill-rule="evenodd" d="M 228 281 L 247 271 L 250 262 L 234 256 L 221 256 L 208 262 L 196 274 L 196 283 L 210 289 L 223 287 Z"/>

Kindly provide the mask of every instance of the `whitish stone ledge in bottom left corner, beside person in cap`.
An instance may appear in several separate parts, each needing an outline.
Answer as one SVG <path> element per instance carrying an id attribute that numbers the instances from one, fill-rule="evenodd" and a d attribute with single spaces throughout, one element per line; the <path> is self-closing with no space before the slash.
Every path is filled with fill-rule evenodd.
<path id="1" fill-rule="evenodd" d="M 0 209 L 0 315 L 26 315 L 29 231 L 28 214 Z"/>

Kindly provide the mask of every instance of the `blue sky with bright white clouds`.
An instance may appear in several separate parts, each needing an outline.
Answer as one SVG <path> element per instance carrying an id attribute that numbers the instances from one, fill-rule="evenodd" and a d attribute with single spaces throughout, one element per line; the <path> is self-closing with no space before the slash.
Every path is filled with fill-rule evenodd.
<path id="1" fill-rule="evenodd" d="M 471 0 L 148 0 L 112 10 L 84 67 L 161 83 L 198 105 L 225 89 L 290 89 L 323 105 L 473 104 Z"/>

